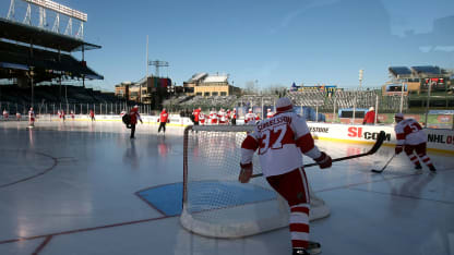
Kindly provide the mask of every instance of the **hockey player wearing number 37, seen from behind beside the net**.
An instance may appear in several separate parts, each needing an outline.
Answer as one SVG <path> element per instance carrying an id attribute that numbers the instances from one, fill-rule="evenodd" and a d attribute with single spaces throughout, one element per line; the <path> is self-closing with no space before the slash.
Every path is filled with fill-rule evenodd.
<path id="1" fill-rule="evenodd" d="M 259 149 L 263 175 L 290 206 L 292 254 L 318 254 L 320 244 L 309 241 L 310 194 L 301 153 L 320 168 L 330 168 L 332 159 L 314 145 L 306 120 L 292 112 L 289 98 L 279 98 L 276 108 L 276 114 L 262 120 L 242 142 L 239 181 L 249 182 L 252 157 Z"/>

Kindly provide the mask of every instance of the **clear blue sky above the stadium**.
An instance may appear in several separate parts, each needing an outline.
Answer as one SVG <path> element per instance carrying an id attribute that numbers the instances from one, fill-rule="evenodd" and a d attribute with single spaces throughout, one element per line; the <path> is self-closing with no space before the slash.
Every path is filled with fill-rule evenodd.
<path id="1" fill-rule="evenodd" d="M 1 0 L 7 17 L 11 0 Z M 93 87 L 113 90 L 139 81 L 150 60 L 167 61 L 159 74 L 177 86 L 193 74 L 228 74 L 230 84 L 259 89 L 297 85 L 380 87 L 389 66 L 454 69 L 453 0 L 58 0 L 87 13 L 85 52 L 104 75 Z M 15 19 L 25 2 L 15 0 Z M 37 25 L 34 7 L 32 23 Z M 55 13 L 48 12 L 52 27 Z M 68 21 L 60 17 L 60 29 Z M 73 22 L 73 34 L 79 24 Z M 146 37 L 148 36 L 148 47 Z M 81 52 L 73 52 L 81 59 Z M 148 66 L 155 74 L 155 66 Z"/>

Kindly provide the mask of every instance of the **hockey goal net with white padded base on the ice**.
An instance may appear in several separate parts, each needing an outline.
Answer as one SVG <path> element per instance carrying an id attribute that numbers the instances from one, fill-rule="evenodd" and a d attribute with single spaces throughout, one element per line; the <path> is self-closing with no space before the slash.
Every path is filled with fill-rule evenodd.
<path id="1" fill-rule="evenodd" d="M 252 130 L 247 125 L 184 130 L 183 228 L 204 236 L 241 238 L 288 226 L 287 203 L 263 177 L 238 181 L 241 143 Z M 261 172 L 256 155 L 253 168 Z M 324 201 L 310 194 L 310 220 L 328 216 Z"/>

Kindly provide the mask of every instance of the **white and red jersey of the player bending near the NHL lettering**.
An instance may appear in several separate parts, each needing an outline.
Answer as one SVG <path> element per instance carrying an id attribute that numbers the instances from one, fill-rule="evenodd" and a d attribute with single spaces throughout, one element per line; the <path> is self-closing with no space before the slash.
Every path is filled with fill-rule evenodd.
<path id="1" fill-rule="evenodd" d="M 402 120 L 394 126 L 394 131 L 396 132 L 397 145 L 427 143 L 427 135 L 415 119 Z"/>

